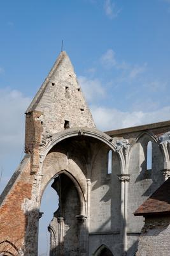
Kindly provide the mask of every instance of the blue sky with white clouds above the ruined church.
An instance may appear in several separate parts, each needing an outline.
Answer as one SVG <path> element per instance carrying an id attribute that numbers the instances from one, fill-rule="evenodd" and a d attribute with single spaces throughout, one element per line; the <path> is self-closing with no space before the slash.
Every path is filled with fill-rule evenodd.
<path id="1" fill-rule="evenodd" d="M 24 111 L 62 39 L 99 129 L 170 119 L 170 0 L 1 1 L 1 190 L 24 154 Z"/>

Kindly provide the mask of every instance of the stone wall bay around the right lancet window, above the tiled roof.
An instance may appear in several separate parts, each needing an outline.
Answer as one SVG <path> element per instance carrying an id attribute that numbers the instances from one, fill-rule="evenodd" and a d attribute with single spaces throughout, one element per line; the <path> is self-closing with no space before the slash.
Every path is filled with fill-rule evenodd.
<path id="1" fill-rule="evenodd" d="M 134 145 L 131 152 L 129 161 L 129 174 L 131 176 L 128 198 L 128 232 L 141 232 L 143 217 L 138 218 L 138 222 L 136 222 L 133 212 L 164 182 L 164 177 L 160 171 L 164 168 L 162 152 L 153 140 L 152 170 L 146 169 L 147 144 L 151 140 L 152 138 L 144 134 Z"/>

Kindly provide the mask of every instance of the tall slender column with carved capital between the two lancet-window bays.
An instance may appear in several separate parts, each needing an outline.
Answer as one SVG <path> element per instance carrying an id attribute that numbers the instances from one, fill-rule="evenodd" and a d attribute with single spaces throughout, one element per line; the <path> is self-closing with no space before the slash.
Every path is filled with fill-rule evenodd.
<path id="1" fill-rule="evenodd" d="M 123 238 L 123 253 L 127 255 L 127 182 L 130 181 L 129 174 L 118 175 L 118 179 L 121 182 L 121 214 L 122 214 L 122 238 Z"/>

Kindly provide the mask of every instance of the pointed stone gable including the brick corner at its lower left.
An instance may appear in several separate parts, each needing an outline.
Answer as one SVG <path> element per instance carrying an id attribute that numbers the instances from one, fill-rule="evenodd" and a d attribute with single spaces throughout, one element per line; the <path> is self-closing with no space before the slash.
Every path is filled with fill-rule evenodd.
<path id="1" fill-rule="evenodd" d="M 31 154 L 31 173 L 38 172 L 39 152 L 57 132 L 94 128 L 94 120 L 66 52 L 61 52 L 26 111 L 25 153 Z"/>

